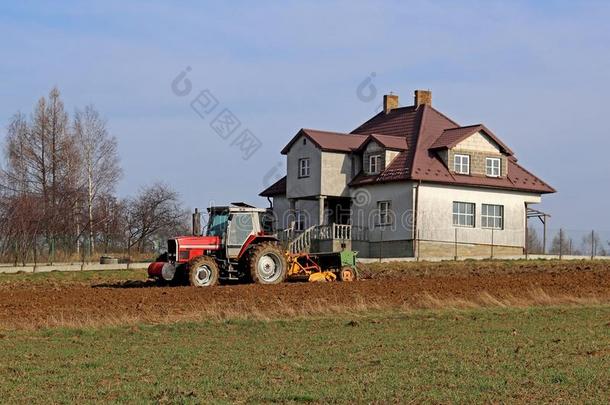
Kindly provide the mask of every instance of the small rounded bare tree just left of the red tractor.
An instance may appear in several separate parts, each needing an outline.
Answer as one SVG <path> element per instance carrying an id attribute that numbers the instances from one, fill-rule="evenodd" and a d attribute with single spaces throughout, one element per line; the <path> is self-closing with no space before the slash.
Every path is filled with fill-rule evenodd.
<path id="1" fill-rule="evenodd" d="M 157 236 L 183 232 L 188 223 L 188 212 L 182 207 L 179 195 L 168 185 L 155 183 L 144 187 L 128 200 L 126 211 L 127 250 L 137 246 L 143 252 L 147 243 Z"/>

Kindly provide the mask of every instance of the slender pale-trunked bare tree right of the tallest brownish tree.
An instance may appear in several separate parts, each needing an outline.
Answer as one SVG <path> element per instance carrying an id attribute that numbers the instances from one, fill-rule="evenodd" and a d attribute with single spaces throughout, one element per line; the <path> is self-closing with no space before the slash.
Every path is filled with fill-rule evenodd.
<path id="1" fill-rule="evenodd" d="M 118 147 L 116 138 L 108 134 L 106 122 L 92 105 L 76 111 L 74 135 L 84 168 L 89 253 L 93 254 L 96 225 L 93 210 L 98 197 L 102 193 L 111 194 L 121 177 Z"/>

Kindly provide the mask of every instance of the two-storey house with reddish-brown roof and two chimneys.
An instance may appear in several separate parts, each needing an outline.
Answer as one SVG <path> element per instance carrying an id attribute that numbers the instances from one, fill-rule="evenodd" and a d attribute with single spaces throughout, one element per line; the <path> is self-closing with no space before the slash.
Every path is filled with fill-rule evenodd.
<path id="1" fill-rule="evenodd" d="M 303 128 L 282 154 L 286 176 L 260 195 L 296 250 L 521 255 L 529 206 L 555 192 L 489 128 L 458 124 L 424 90 L 407 107 L 385 95 L 350 133 Z"/>

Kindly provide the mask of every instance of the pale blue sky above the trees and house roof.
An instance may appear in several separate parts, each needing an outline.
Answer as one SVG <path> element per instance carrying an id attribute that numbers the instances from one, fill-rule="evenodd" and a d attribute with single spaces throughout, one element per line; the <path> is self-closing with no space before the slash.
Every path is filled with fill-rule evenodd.
<path id="1" fill-rule="evenodd" d="M 610 230 L 609 19 L 568 1 L 2 2 L 0 135 L 56 85 L 107 119 L 120 195 L 163 180 L 191 208 L 265 206 L 300 128 L 351 131 L 383 94 L 430 89 L 559 191 L 551 226 Z M 224 109 L 232 135 L 213 128 Z"/>

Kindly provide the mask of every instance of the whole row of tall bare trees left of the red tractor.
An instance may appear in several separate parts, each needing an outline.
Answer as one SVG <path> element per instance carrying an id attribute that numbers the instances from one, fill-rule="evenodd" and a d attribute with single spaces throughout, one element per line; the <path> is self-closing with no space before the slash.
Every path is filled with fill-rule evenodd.
<path id="1" fill-rule="evenodd" d="M 92 106 L 65 111 L 54 88 L 7 127 L 0 170 L 0 256 L 53 261 L 96 252 L 145 252 L 184 231 L 187 212 L 161 183 L 119 199 L 116 138 Z"/>

